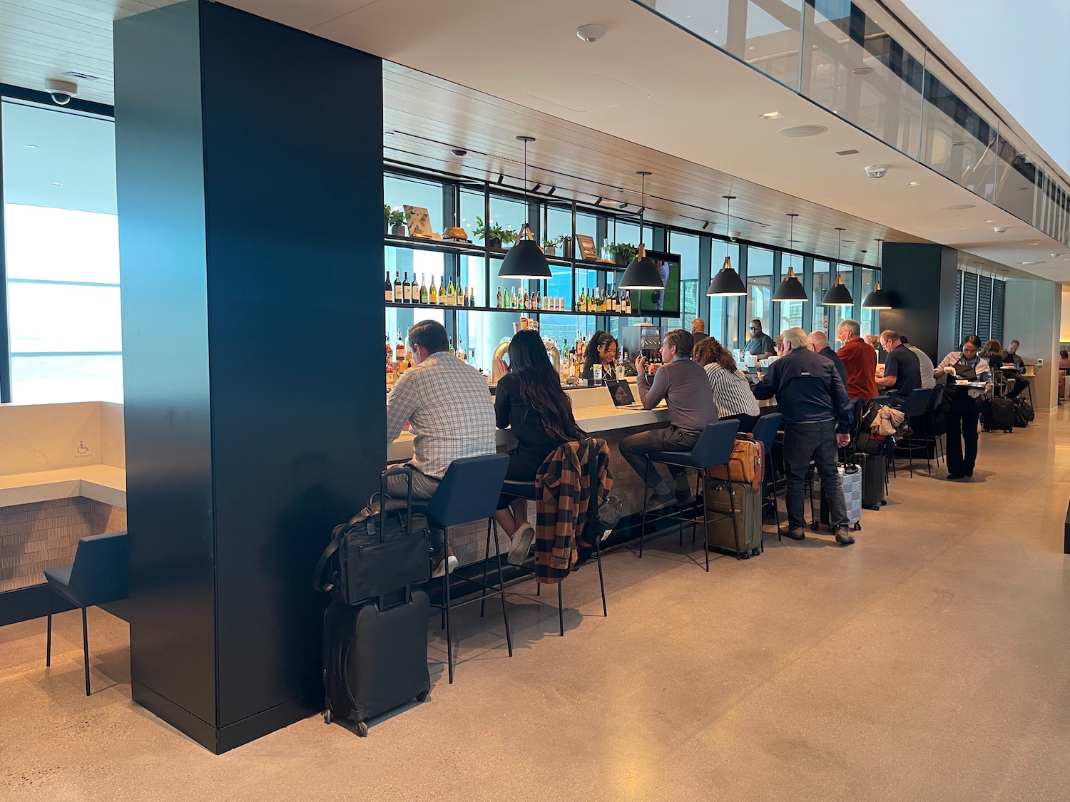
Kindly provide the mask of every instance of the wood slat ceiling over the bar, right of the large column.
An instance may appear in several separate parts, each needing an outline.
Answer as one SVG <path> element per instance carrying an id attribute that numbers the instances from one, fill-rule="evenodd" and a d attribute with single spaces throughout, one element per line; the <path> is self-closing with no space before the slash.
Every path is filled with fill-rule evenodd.
<path id="1" fill-rule="evenodd" d="M 878 238 L 927 242 L 397 64 L 384 65 L 383 81 L 387 159 L 478 180 L 501 173 L 520 188 L 523 146 L 516 136 L 525 134 L 536 138 L 528 151 L 529 188 L 556 186 L 554 198 L 592 203 L 600 196 L 637 211 L 636 171 L 648 170 L 646 217 L 657 222 L 701 229 L 708 221 L 707 231 L 723 235 L 722 196 L 734 195 L 729 229 L 745 240 L 786 247 L 786 215 L 796 213 L 793 249 L 828 258 L 836 257 L 837 227 L 846 229 L 843 259 L 863 264 L 876 264 Z M 469 153 L 457 157 L 453 148 Z"/>

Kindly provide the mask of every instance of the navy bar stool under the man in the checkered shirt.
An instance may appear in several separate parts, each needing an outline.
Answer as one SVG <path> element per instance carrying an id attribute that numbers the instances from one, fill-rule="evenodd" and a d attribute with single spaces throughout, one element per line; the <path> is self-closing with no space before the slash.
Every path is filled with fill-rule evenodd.
<path id="1" fill-rule="evenodd" d="M 412 504 L 413 512 L 422 512 L 427 515 L 427 521 L 432 528 L 442 529 L 445 533 L 445 543 L 443 547 L 449 546 L 449 527 L 465 524 L 470 521 L 487 519 L 487 542 L 489 542 L 493 531 L 494 558 L 498 561 L 499 588 L 502 587 L 502 555 L 498 547 L 498 523 L 494 521 L 494 510 L 498 507 L 498 498 L 502 492 L 502 482 L 505 480 L 505 472 L 509 467 L 509 456 L 487 454 L 486 457 L 464 457 L 454 460 L 442 477 L 438 490 L 429 499 L 414 499 Z M 484 567 L 484 581 L 486 582 L 487 571 Z M 446 628 L 446 665 L 449 672 L 449 681 L 454 681 L 454 652 L 453 641 L 449 630 L 449 611 L 453 606 L 462 606 L 477 601 L 470 599 L 460 604 L 452 604 L 449 599 L 449 571 L 442 576 L 443 603 L 440 606 Z M 505 591 L 500 591 L 502 597 L 502 618 L 505 620 L 505 643 L 513 657 L 513 634 L 509 632 L 509 615 L 505 610 Z"/>

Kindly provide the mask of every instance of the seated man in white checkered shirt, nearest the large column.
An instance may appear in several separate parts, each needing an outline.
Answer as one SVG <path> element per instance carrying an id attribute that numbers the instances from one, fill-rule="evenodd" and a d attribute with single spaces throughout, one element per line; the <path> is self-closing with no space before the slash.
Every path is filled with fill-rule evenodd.
<path id="1" fill-rule="evenodd" d="M 494 453 L 494 403 L 483 374 L 449 353 L 441 323 L 421 321 L 410 328 L 409 349 L 415 366 L 398 376 L 386 397 L 386 442 L 397 439 L 409 422 L 415 435 L 408 463 L 414 468 L 412 495 L 430 498 L 454 460 Z M 403 497 L 404 478 L 391 477 L 386 492 Z M 453 571 L 453 552 L 447 551 L 443 567 L 442 542 L 432 546 L 438 554 L 431 575 Z"/>

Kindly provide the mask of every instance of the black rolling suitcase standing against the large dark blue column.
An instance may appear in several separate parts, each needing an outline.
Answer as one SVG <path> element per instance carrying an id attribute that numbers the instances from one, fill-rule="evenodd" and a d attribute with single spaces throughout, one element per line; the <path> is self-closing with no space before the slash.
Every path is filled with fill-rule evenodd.
<path id="1" fill-rule="evenodd" d="M 431 690 L 427 669 L 427 593 L 402 591 L 401 603 L 384 597 L 364 604 L 331 602 L 323 614 L 323 721 L 347 719 L 360 736 L 367 720 Z"/>

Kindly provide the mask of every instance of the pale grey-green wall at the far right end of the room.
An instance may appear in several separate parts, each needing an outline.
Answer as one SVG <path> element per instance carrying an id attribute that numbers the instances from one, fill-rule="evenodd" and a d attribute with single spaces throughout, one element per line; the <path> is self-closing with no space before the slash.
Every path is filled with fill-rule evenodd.
<path id="1" fill-rule="evenodd" d="M 1004 299 L 1004 346 L 1021 343 L 1023 359 L 1043 359 L 1035 368 L 1033 403 L 1037 412 L 1054 412 L 1058 405 L 1059 328 L 1063 292 L 1054 281 L 1008 279 Z"/>

